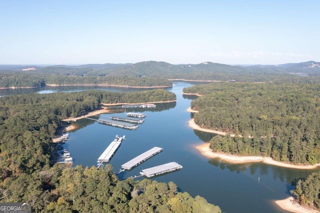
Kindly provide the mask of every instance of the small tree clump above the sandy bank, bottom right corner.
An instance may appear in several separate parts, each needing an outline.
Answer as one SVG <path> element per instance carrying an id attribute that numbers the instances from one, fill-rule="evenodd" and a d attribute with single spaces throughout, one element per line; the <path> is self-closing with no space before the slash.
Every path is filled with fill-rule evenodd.
<path id="1" fill-rule="evenodd" d="M 320 207 L 320 172 L 313 172 L 305 179 L 299 179 L 290 191 L 299 204 Z"/>

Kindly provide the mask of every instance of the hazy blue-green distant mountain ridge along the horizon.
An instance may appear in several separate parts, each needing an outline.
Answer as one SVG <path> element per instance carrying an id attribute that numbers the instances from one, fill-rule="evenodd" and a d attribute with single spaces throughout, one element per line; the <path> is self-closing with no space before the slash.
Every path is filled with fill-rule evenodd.
<path id="1" fill-rule="evenodd" d="M 0 65 L 0 70 L 28 69 L 25 73 L 55 74 L 67 76 L 147 76 L 153 78 L 189 80 L 272 81 L 279 76 L 304 73 L 320 76 L 320 62 L 306 61 L 277 65 L 228 65 L 210 61 L 198 64 L 171 64 L 164 61 L 141 61 L 137 63 L 104 63 L 82 65 Z"/>

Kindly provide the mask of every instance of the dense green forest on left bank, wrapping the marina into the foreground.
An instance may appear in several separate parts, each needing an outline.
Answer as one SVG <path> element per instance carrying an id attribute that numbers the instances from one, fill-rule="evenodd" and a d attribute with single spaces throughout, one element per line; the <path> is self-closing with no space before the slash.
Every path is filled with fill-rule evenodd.
<path id="1" fill-rule="evenodd" d="M 0 97 L 0 201 L 30 202 L 32 212 L 220 212 L 174 183 L 119 180 L 108 164 L 50 167 L 52 137 L 61 119 L 100 103 L 175 100 L 163 89 L 143 92 L 87 90 Z"/>

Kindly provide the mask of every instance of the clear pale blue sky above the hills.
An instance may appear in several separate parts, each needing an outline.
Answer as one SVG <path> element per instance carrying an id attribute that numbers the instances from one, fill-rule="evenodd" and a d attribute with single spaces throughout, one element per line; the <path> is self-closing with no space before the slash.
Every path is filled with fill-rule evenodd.
<path id="1" fill-rule="evenodd" d="M 320 61 L 320 0 L 1 0 L 0 64 Z"/>

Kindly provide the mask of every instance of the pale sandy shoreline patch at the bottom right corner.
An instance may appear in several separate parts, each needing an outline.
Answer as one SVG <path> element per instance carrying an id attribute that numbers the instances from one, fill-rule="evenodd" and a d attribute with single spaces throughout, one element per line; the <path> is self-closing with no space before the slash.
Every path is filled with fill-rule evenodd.
<path id="1" fill-rule="evenodd" d="M 290 212 L 295 212 L 295 213 L 320 212 L 320 211 L 312 209 L 312 208 L 307 208 L 307 207 L 301 206 L 299 203 L 294 201 L 294 198 L 292 196 L 289 196 L 288 198 L 281 199 L 281 200 L 275 200 L 274 202 L 282 209 L 290 211 Z"/>

